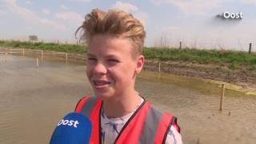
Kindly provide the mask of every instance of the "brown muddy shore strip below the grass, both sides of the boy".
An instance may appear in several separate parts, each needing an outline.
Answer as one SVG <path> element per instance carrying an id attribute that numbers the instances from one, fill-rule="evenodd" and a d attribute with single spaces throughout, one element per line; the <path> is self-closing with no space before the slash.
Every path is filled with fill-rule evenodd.
<path id="1" fill-rule="evenodd" d="M 6 51 L 5 47 L 0 46 L 0 52 Z M 16 51 L 16 52 L 15 52 Z M 26 49 L 26 51 L 32 52 L 34 55 L 41 56 L 42 50 L 31 50 Z M 45 55 L 54 55 L 54 57 L 65 58 L 66 52 L 59 51 L 48 51 L 43 50 Z M 7 50 L 8 53 L 10 51 Z M 22 55 L 22 49 L 14 48 L 11 52 L 12 54 Z M 30 53 L 30 54 L 32 54 Z M 0 53 L 1 54 L 1 53 Z M 28 54 L 25 54 L 28 55 Z M 69 59 L 71 61 L 86 62 L 86 54 L 70 54 Z M 239 87 L 240 91 L 249 93 L 256 93 L 256 70 L 249 70 L 247 66 L 241 66 L 241 69 L 231 70 L 229 64 L 200 64 L 198 62 L 185 62 L 185 61 L 162 61 L 159 64 L 158 59 L 146 58 L 146 62 L 143 70 L 166 73 L 166 74 L 176 74 L 186 77 L 203 78 L 206 81 L 214 83 L 223 83 L 236 85 Z M 216 81 L 216 82 L 215 82 Z M 233 86 L 234 87 L 234 86 Z"/>

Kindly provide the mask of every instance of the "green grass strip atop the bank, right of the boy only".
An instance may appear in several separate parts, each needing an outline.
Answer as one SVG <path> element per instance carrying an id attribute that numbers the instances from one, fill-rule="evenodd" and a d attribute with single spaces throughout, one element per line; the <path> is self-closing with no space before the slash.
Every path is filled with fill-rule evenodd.
<path id="1" fill-rule="evenodd" d="M 248 54 L 234 50 L 198 50 L 198 49 L 175 49 L 175 48 L 146 48 L 146 58 L 158 58 L 161 61 L 186 61 L 208 63 L 229 63 L 230 68 L 237 69 L 240 65 L 256 66 L 256 54 Z"/>

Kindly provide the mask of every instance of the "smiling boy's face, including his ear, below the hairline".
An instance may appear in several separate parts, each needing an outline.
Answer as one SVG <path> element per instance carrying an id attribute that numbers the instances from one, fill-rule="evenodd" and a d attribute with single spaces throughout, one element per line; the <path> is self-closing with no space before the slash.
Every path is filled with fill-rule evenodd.
<path id="1" fill-rule="evenodd" d="M 132 58 L 128 39 L 97 34 L 89 47 L 86 74 L 96 96 L 113 98 L 134 90 L 135 75 L 142 70 L 144 57 Z"/>

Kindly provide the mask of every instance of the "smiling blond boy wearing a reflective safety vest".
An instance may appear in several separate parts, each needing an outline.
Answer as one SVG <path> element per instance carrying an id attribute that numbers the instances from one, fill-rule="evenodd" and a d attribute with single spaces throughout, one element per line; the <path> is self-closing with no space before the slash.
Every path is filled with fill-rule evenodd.
<path id="1" fill-rule="evenodd" d="M 122 10 L 94 9 L 80 30 L 89 45 L 86 75 L 94 96 L 82 98 L 75 111 L 92 122 L 90 143 L 182 143 L 177 118 L 134 90 L 145 62 L 142 23 Z"/>

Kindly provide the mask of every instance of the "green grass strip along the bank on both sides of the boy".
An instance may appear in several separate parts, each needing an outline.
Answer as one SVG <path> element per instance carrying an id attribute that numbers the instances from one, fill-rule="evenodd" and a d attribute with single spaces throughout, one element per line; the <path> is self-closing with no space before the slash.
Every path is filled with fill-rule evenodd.
<path id="1" fill-rule="evenodd" d="M 68 53 L 85 54 L 88 50 L 86 46 L 44 43 L 44 42 L 18 42 L 18 41 L 0 41 L 0 46 L 11 46 L 19 48 L 28 48 L 35 50 L 56 50 Z M 160 61 L 183 61 L 199 64 L 219 64 L 226 65 L 230 69 L 239 69 L 240 66 L 246 66 L 248 70 L 256 70 L 256 54 L 234 50 L 198 50 L 198 49 L 176 49 L 176 48 L 154 48 L 146 47 L 144 49 L 146 58 L 156 58 Z"/>

